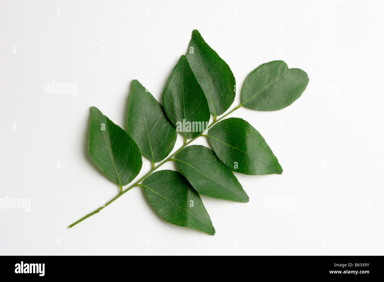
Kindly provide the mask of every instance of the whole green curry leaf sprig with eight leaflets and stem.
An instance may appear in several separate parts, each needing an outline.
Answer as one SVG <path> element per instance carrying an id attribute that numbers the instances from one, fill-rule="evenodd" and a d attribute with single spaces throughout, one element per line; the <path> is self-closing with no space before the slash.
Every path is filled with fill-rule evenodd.
<path id="1" fill-rule="evenodd" d="M 241 107 L 283 109 L 301 96 L 308 82 L 305 71 L 290 69 L 284 61 L 262 64 L 245 79 L 240 105 L 227 112 L 235 100 L 235 77 L 199 31 L 192 31 L 187 54 L 180 57 L 170 74 L 162 104 L 139 81 L 132 81 L 127 131 L 91 107 L 89 154 L 119 186 L 119 193 L 68 228 L 139 186 L 166 221 L 214 235 L 215 228 L 199 194 L 246 203 L 249 197 L 233 172 L 283 172 L 265 139 L 249 122 L 224 118 Z M 209 124 L 211 114 L 213 121 Z M 171 154 L 177 132 L 184 137 L 184 144 Z M 212 150 L 189 146 L 203 136 Z M 151 161 L 152 169 L 123 189 L 141 171 L 142 156 Z M 167 162 L 175 162 L 180 172 L 155 172 Z"/>

